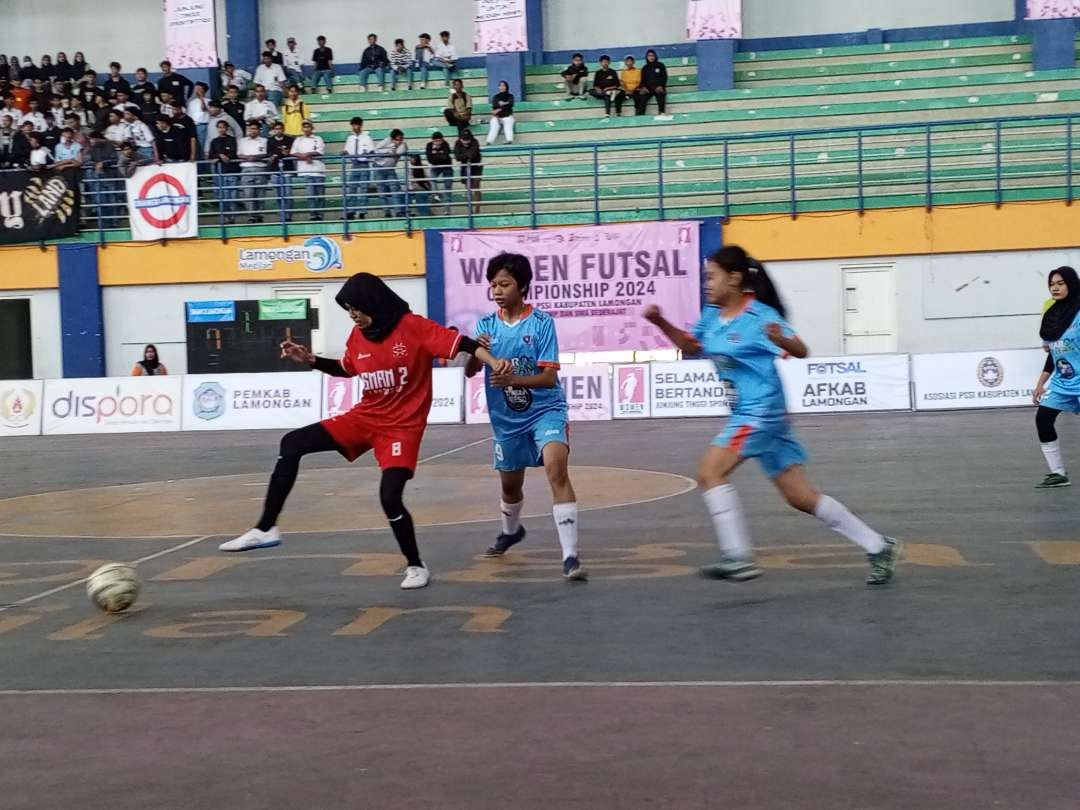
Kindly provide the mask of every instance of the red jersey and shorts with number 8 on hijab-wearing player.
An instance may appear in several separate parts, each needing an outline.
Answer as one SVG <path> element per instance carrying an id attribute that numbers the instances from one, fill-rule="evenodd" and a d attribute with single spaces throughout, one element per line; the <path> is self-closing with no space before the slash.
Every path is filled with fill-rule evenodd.
<path id="1" fill-rule="evenodd" d="M 361 400 L 323 421 L 345 457 L 374 449 L 382 469 L 414 469 L 431 410 L 432 360 L 455 356 L 460 343 L 459 333 L 411 312 L 377 343 L 353 328 L 341 367 L 360 377 Z"/>

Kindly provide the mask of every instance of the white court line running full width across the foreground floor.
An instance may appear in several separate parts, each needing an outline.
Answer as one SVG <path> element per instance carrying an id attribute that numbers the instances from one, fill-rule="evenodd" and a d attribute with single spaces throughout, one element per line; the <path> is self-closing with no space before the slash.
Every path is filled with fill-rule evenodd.
<path id="1" fill-rule="evenodd" d="M 977 680 L 886 678 L 882 680 L 525 680 L 461 684 L 339 684 L 333 686 L 176 686 L 120 689 L 0 689 L 0 697 L 79 694 L 229 694 L 235 692 L 397 692 L 450 689 L 822 689 L 828 687 L 1080 687 L 1080 680 Z"/>

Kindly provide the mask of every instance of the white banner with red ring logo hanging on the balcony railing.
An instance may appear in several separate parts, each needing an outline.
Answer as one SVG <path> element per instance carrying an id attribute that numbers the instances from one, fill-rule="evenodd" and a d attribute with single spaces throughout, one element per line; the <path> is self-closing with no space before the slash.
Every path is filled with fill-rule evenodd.
<path id="1" fill-rule="evenodd" d="M 126 180 L 132 240 L 199 235 L 199 174 L 194 163 L 141 166 Z"/>

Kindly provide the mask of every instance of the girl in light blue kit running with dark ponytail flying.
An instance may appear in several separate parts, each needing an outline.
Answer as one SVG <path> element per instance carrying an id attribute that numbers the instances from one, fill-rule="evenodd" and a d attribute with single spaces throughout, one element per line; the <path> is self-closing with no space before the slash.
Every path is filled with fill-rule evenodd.
<path id="1" fill-rule="evenodd" d="M 892 579 L 900 543 L 820 494 L 807 477 L 806 451 L 787 421 L 774 361 L 777 356 L 805 357 L 808 351 L 784 320 L 784 306 L 765 268 L 741 247 L 725 247 L 708 257 L 705 292 L 708 306 L 693 335 L 666 321 L 657 307 L 645 312 L 685 353 L 708 356 L 726 388 L 733 389 L 731 418 L 705 451 L 698 473 L 723 551 L 720 562 L 704 573 L 735 581 L 761 576 L 754 564 L 739 495 L 729 481 L 745 459 L 757 458 L 788 503 L 866 551 L 870 566 L 866 582 L 883 585 Z"/>

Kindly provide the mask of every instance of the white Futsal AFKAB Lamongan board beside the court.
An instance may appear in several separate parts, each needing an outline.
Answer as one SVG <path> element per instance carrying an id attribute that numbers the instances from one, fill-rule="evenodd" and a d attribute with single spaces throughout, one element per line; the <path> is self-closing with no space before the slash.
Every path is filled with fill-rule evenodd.
<path id="1" fill-rule="evenodd" d="M 777 362 L 789 414 L 909 410 L 906 354 L 788 357 Z"/>

